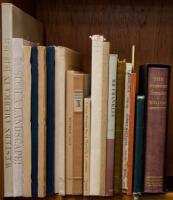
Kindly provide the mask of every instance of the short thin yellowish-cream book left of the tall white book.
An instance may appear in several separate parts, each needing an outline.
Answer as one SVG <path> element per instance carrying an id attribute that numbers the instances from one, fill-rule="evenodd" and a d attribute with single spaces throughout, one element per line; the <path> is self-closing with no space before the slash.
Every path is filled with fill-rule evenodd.
<path id="1" fill-rule="evenodd" d="M 90 194 L 90 134 L 91 134 L 91 98 L 84 99 L 84 180 L 83 194 Z"/>

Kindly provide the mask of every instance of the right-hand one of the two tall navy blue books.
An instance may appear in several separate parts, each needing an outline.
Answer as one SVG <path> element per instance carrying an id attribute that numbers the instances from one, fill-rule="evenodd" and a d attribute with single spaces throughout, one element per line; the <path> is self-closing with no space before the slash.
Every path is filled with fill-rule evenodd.
<path id="1" fill-rule="evenodd" d="M 47 194 L 54 194 L 55 48 L 47 47 Z"/>

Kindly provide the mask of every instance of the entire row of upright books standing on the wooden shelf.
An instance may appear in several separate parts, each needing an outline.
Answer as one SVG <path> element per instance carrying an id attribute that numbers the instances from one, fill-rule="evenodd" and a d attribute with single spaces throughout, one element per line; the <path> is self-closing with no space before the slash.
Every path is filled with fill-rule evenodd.
<path id="1" fill-rule="evenodd" d="M 93 35 L 85 74 L 78 52 L 40 46 L 40 22 L 1 9 L 4 195 L 164 192 L 171 67 L 141 66 L 137 91 L 134 61 Z"/>

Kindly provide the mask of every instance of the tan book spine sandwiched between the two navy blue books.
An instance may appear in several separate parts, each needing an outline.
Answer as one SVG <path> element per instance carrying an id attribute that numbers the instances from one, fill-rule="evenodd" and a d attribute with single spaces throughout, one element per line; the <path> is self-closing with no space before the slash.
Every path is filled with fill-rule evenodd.
<path id="1" fill-rule="evenodd" d="M 38 48 L 38 197 L 46 196 L 46 48 Z"/>

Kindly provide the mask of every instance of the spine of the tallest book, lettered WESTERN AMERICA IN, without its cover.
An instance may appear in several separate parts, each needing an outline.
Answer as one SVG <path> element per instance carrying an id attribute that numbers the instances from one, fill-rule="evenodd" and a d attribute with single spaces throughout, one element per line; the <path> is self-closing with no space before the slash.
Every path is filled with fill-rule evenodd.
<path id="1" fill-rule="evenodd" d="M 3 87 L 3 152 L 4 196 L 13 196 L 12 131 L 11 131 L 11 7 L 2 4 L 2 87 Z"/>

